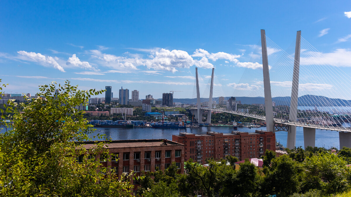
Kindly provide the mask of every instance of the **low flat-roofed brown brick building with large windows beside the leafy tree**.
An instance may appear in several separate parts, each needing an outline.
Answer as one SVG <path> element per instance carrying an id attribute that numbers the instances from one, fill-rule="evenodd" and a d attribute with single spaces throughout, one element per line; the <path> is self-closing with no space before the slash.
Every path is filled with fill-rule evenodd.
<path id="1" fill-rule="evenodd" d="M 94 142 L 84 142 L 84 147 L 93 149 Z M 111 166 L 111 172 L 122 175 L 124 172 L 134 170 L 137 176 L 141 171 L 155 171 L 158 167 L 164 170 L 176 162 L 179 173 L 184 173 L 184 144 L 168 140 L 166 144 L 163 139 L 156 140 L 113 140 L 110 144 L 105 144 L 112 154 L 110 159 L 101 159 L 104 167 Z M 117 159 L 119 158 L 119 159 Z M 105 159 L 105 160 L 104 160 Z M 79 158 L 78 158 L 79 162 Z M 109 169 L 107 171 L 110 171 Z"/>

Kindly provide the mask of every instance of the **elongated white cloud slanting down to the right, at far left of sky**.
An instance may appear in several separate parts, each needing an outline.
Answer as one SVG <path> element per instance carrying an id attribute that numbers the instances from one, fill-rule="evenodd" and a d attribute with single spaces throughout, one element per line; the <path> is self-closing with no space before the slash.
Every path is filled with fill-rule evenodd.
<path id="1" fill-rule="evenodd" d="M 17 53 L 21 55 L 22 58 L 20 59 L 22 60 L 37 62 L 42 66 L 48 66 L 48 67 L 52 66 L 60 70 L 61 72 L 66 72 L 64 68 L 62 68 L 62 66 L 60 66 L 60 64 L 57 63 L 57 61 L 55 61 L 55 59 L 51 56 L 45 56 L 40 53 L 34 53 L 34 52 L 26 52 L 24 50 L 20 50 Z M 55 58 L 58 59 L 57 57 Z"/>

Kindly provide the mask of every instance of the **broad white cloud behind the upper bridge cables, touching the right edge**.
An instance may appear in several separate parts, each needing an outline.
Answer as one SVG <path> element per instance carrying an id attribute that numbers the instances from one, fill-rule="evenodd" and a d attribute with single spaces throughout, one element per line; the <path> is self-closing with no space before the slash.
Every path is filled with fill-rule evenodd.
<path id="1" fill-rule="evenodd" d="M 301 65 L 316 65 L 327 64 L 336 65 L 338 67 L 351 67 L 351 50 L 336 49 L 331 53 L 321 52 L 304 52 L 300 57 Z"/>

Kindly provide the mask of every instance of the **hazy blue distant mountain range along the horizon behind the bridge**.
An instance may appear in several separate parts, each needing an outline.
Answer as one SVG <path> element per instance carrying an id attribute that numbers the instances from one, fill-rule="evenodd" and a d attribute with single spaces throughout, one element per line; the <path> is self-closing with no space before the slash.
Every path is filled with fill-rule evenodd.
<path id="1" fill-rule="evenodd" d="M 228 100 L 230 97 L 225 97 Z M 214 100 L 218 101 L 218 97 L 214 97 Z M 162 99 L 158 99 L 162 100 Z M 201 98 L 201 102 L 205 102 L 208 99 Z M 241 101 L 241 104 L 264 104 L 264 97 L 245 97 L 238 96 L 236 97 L 237 101 Z M 290 96 L 285 97 L 273 97 L 272 101 L 276 102 L 276 105 L 286 105 L 290 106 Z M 173 102 L 186 103 L 186 104 L 196 104 L 195 99 L 173 99 Z M 351 106 L 351 100 L 343 99 L 331 99 L 325 96 L 316 96 L 316 95 L 303 95 L 298 99 L 298 106 Z"/>

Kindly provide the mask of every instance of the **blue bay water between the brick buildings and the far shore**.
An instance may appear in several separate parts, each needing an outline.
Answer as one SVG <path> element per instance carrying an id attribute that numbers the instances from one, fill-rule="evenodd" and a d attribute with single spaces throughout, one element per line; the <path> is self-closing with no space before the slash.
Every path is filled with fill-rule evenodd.
<path id="1" fill-rule="evenodd" d="M 238 131 L 254 132 L 255 130 L 266 130 L 266 127 L 261 128 L 238 128 Z M 179 132 L 187 132 L 192 134 L 206 134 L 207 131 L 216 131 L 219 133 L 231 133 L 232 127 L 200 127 L 186 129 L 162 129 L 162 128 L 146 128 L 134 127 L 131 129 L 124 128 L 97 128 L 93 135 L 98 133 L 111 136 L 112 140 L 135 140 L 135 139 L 168 139 L 172 140 L 172 135 L 178 135 Z M 286 147 L 286 131 L 276 132 L 276 140 Z M 296 129 L 296 147 L 304 148 L 303 128 Z M 339 134 L 337 131 L 316 130 L 316 146 L 317 147 L 336 147 L 339 148 Z"/>

